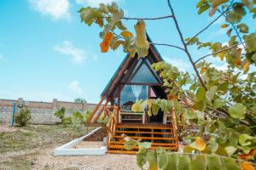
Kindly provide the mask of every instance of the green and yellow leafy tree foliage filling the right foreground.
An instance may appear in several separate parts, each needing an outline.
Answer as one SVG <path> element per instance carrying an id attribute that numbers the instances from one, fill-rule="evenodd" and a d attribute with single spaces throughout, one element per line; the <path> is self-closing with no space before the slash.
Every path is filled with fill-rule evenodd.
<path id="1" fill-rule="evenodd" d="M 147 161 L 150 161 L 151 169 L 159 167 L 160 169 L 177 169 L 177 167 L 181 169 L 222 167 L 223 169 L 247 169 L 252 167 L 248 162 L 238 164 L 230 157 L 220 156 L 252 161 L 256 152 L 254 151 L 256 145 L 254 137 L 256 134 L 256 34 L 243 20 L 246 16 L 256 18 L 255 4 L 254 0 L 200 0 L 197 3 L 198 14 L 208 11 L 210 17 L 218 15 L 212 23 L 224 17 L 225 21 L 220 29 L 227 30 L 226 34 L 229 38 L 227 43 L 202 42 L 199 39 L 198 35 L 206 31 L 212 23 L 195 37 L 183 40 L 177 20 L 174 20 L 182 41 L 185 41 L 184 48 L 181 49 L 188 55 L 195 76 L 187 71 L 178 71 L 176 66 L 165 62 L 154 63 L 152 68 L 160 74 L 164 82 L 167 99 L 137 101 L 132 105 L 132 111 L 144 111 L 145 106 L 148 105 L 148 116 L 152 116 L 159 110 L 168 114 L 174 107 L 180 126 L 199 127 L 196 134 L 186 132 L 181 134 L 183 139 L 190 141 L 183 151 L 203 155 L 175 156 L 160 149 L 148 151 L 140 147 L 137 154 L 139 167 L 143 168 Z M 169 7 L 172 10 L 170 4 Z M 138 20 L 135 24 L 135 37 L 123 25 L 122 19 L 127 18 L 115 3 L 101 4 L 99 8 L 81 8 L 79 12 L 81 19 L 88 26 L 95 22 L 103 28 L 100 37 L 103 39 L 102 42 L 106 41 L 105 52 L 108 48 L 115 50 L 122 45 L 124 52 L 131 57 L 136 53 L 138 57 L 145 57 L 148 54 L 149 44 L 143 20 Z M 189 46 L 210 50 L 211 54 L 193 61 L 189 54 Z M 218 70 L 204 60 L 209 56 L 224 61 L 227 67 L 224 70 Z M 134 145 L 133 142 L 130 141 L 128 144 L 130 149 Z M 183 161 L 179 164 L 177 160 Z M 183 162 L 189 162 L 189 167 L 186 167 Z"/>

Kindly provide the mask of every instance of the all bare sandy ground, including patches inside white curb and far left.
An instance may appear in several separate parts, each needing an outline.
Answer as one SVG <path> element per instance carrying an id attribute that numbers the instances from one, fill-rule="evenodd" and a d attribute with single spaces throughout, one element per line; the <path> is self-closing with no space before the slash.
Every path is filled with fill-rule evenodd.
<path id="1" fill-rule="evenodd" d="M 0 124 L 1 125 L 1 124 Z M 15 127 L 7 125 L 0 126 L 0 133 L 20 133 L 26 131 L 16 131 Z M 19 128 L 19 130 L 21 130 Z M 65 137 L 65 135 L 62 135 Z M 54 137 L 56 138 L 56 137 Z M 58 139 L 55 139 L 58 140 Z M 88 147 L 88 144 L 99 147 L 102 142 L 84 141 L 77 147 Z M 136 170 L 136 156 L 133 155 L 113 155 L 104 156 L 54 156 L 54 150 L 60 143 L 50 143 L 17 151 L 0 152 L 0 170 Z"/>

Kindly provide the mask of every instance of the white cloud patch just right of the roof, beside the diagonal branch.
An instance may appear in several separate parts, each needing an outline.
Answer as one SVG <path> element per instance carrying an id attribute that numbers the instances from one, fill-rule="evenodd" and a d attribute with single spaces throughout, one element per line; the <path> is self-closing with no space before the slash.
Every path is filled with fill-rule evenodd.
<path id="1" fill-rule="evenodd" d="M 183 60 L 183 59 L 175 59 L 175 58 L 168 58 L 164 57 L 164 60 L 173 65 L 176 66 L 179 71 L 189 71 L 192 67 L 189 65 L 189 61 Z"/>

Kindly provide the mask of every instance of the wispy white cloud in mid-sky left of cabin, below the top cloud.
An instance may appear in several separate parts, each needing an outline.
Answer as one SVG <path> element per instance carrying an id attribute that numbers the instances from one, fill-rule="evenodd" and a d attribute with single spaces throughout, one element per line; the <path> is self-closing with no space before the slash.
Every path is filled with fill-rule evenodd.
<path id="1" fill-rule="evenodd" d="M 86 58 L 84 49 L 76 48 L 68 41 L 62 42 L 61 45 L 55 46 L 54 49 L 61 54 L 71 55 L 73 62 L 77 64 L 82 63 Z"/>

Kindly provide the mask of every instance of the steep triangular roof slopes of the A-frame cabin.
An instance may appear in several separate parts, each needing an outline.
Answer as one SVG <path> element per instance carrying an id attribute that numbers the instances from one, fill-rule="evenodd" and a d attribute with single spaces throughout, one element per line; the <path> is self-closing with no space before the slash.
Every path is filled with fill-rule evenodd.
<path id="1" fill-rule="evenodd" d="M 147 39 L 148 42 L 152 42 L 151 38 L 148 36 L 147 33 Z M 164 59 L 160 56 L 160 53 L 158 50 L 154 47 L 154 44 L 150 43 L 149 49 L 148 49 L 148 56 L 145 57 L 145 59 L 148 59 L 150 62 L 150 65 L 152 65 L 155 62 L 163 61 Z M 137 61 L 137 62 L 136 62 Z M 137 55 L 133 58 L 129 57 L 129 54 L 125 56 L 125 59 L 121 62 L 119 65 L 117 71 L 113 74 L 113 77 L 108 82 L 108 85 L 106 88 L 104 88 L 101 96 L 102 98 L 108 98 L 112 97 L 116 93 L 116 89 L 118 88 L 119 82 L 122 82 L 125 80 L 125 78 L 129 78 L 129 74 L 132 74 L 131 71 L 133 71 L 139 62 L 139 59 Z M 129 72 L 130 71 L 130 72 Z"/>

